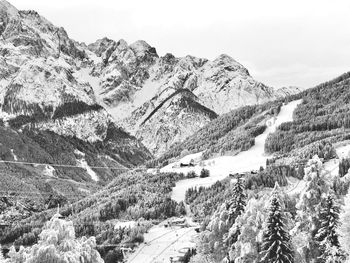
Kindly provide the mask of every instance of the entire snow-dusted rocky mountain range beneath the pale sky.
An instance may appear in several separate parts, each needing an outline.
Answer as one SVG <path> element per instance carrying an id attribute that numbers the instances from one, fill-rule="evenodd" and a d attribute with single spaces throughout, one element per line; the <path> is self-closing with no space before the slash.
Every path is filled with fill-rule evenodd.
<path id="1" fill-rule="evenodd" d="M 78 43 L 35 11 L 0 3 L 1 116 L 17 128 L 96 143 L 116 122 L 159 155 L 217 115 L 299 91 L 267 87 L 227 55 L 159 56 L 142 40 Z"/>

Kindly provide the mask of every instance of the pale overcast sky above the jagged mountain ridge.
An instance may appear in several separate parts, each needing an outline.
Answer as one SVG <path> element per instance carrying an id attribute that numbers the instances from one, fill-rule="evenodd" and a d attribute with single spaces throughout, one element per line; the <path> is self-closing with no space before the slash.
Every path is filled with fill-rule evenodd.
<path id="1" fill-rule="evenodd" d="M 350 71 L 349 0 L 9 0 L 70 37 L 146 40 L 159 55 L 226 53 L 267 85 L 310 87 Z"/>

